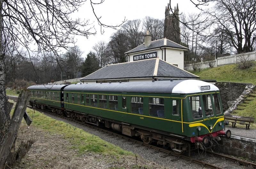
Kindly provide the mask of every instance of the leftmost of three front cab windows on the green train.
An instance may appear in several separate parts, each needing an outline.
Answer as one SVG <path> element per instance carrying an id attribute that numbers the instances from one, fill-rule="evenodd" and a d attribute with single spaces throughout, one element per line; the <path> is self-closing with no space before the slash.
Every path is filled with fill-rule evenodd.
<path id="1" fill-rule="evenodd" d="M 189 102 L 190 102 L 193 119 L 202 118 L 203 111 L 202 111 L 200 96 L 190 96 Z"/>

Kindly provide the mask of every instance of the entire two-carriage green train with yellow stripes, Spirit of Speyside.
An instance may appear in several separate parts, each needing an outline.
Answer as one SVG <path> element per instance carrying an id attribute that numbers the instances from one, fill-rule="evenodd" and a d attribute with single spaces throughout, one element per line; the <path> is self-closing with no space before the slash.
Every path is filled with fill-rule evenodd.
<path id="1" fill-rule="evenodd" d="M 35 85 L 30 103 L 41 109 L 102 125 L 175 153 L 206 150 L 230 137 L 224 129 L 219 89 L 199 80 Z M 35 102 L 35 103 L 33 103 Z M 195 146 L 190 147 L 191 143 Z"/>

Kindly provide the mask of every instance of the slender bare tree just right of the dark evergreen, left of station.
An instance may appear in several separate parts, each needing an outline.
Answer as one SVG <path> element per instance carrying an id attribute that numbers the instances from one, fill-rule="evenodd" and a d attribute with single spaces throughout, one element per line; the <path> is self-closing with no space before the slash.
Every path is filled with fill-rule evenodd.
<path id="1" fill-rule="evenodd" d="M 100 68 L 108 65 L 109 63 L 109 52 L 108 52 L 108 43 L 105 41 L 100 41 L 96 43 L 92 47 L 94 53 L 96 54 L 96 57 L 99 60 L 99 66 Z"/>

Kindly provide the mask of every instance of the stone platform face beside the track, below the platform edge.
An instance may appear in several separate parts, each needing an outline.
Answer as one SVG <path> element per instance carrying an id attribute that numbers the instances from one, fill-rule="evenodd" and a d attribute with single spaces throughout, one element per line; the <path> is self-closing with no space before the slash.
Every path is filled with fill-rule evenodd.
<path id="1" fill-rule="evenodd" d="M 255 142 L 247 142 L 243 140 L 237 139 L 227 139 L 226 137 L 221 137 L 221 141 L 219 142 L 220 146 L 216 151 L 235 155 L 238 157 L 245 157 L 251 160 L 256 160 L 256 143 Z"/>

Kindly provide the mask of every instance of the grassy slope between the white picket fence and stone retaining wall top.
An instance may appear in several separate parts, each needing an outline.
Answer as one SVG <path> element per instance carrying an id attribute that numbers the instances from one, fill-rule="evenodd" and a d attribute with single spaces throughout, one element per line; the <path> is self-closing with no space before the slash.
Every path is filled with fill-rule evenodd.
<path id="1" fill-rule="evenodd" d="M 237 65 L 225 65 L 214 68 L 203 69 L 200 72 L 191 71 L 191 73 L 200 76 L 201 79 L 215 79 L 217 81 L 233 81 L 233 82 L 245 82 L 256 85 L 256 62 L 254 66 L 240 70 L 237 69 Z"/>

